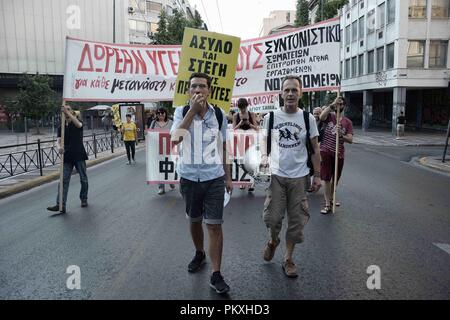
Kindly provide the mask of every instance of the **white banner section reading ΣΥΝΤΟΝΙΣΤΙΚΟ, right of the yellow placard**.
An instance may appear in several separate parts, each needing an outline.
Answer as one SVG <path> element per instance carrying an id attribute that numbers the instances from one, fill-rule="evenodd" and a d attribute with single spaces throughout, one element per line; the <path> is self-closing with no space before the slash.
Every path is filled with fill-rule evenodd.
<path id="1" fill-rule="evenodd" d="M 281 90 L 287 75 L 302 79 L 303 91 L 337 90 L 340 76 L 339 18 L 241 42 L 234 97 Z"/>

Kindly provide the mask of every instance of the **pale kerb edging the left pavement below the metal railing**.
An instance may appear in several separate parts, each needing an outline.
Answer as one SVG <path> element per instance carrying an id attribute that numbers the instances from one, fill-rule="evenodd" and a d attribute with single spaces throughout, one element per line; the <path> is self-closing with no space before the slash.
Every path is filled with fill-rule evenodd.
<path id="1" fill-rule="evenodd" d="M 88 161 L 86 161 L 86 167 L 87 168 L 93 167 L 102 162 L 106 162 L 108 160 L 118 158 L 124 154 L 126 154 L 125 151 L 120 151 L 117 153 L 112 153 L 112 154 L 102 157 L 102 158 L 88 160 Z M 58 165 L 58 167 L 59 167 L 59 165 Z M 16 194 L 16 193 L 30 190 L 34 187 L 38 187 L 40 185 L 43 185 L 43 184 L 46 184 L 46 183 L 49 183 L 51 181 L 58 180 L 58 179 L 59 179 L 59 169 L 57 169 L 55 172 L 49 173 L 46 176 L 37 177 L 35 179 L 30 179 L 28 181 L 20 182 L 12 187 L 6 188 L 5 190 L 1 190 L 0 191 L 0 199 L 12 196 L 13 194 Z"/>

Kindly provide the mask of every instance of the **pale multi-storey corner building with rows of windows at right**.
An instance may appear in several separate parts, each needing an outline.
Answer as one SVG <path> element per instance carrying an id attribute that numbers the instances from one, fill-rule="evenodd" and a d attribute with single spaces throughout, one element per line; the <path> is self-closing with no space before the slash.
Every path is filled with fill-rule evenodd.
<path id="1" fill-rule="evenodd" d="M 342 92 L 363 130 L 446 129 L 450 115 L 450 1 L 351 0 L 341 11 Z"/>

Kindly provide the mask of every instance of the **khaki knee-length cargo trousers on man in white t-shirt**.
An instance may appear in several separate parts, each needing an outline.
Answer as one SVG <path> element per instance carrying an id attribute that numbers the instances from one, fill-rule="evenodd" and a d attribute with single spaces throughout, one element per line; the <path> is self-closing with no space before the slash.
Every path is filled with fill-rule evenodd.
<path id="1" fill-rule="evenodd" d="M 308 176 L 284 178 L 272 175 L 264 202 L 263 220 L 272 239 L 277 239 L 287 211 L 286 240 L 304 241 L 303 228 L 309 220 L 305 184 Z"/>

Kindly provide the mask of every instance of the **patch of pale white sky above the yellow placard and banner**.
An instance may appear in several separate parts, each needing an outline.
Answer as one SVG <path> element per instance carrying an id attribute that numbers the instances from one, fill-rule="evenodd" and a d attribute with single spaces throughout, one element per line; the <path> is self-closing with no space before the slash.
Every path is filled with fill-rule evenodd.
<path id="1" fill-rule="evenodd" d="M 263 18 L 268 18 L 273 10 L 295 10 L 296 2 L 296 0 L 189 0 L 191 6 L 197 6 L 209 31 L 237 36 L 241 40 L 259 37 Z M 222 19 L 219 17 L 217 6 Z"/>

